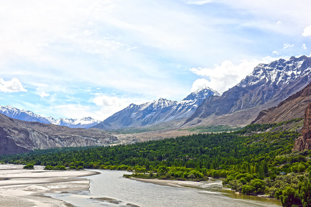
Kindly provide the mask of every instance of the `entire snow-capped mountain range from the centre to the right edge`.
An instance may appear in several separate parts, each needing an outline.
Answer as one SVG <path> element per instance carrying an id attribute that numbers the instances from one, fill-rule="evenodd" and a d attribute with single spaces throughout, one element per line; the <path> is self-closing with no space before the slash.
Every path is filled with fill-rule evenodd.
<path id="1" fill-rule="evenodd" d="M 247 125 L 260 111 L 276 107 L 309 84 L 310 71 L 311 57 L 305 55 L 258 64 L 252 73 L 222 94 L 204 88 L 179 102 L 159 99 L 131 104 L 92 127 L 117 129 L 159 123 L 175 127 Z"/>

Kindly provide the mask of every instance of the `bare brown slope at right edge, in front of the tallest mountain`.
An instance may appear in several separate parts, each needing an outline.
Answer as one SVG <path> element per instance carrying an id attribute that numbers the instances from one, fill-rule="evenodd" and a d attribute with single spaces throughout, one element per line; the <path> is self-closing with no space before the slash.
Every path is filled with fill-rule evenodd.
<path id="1" fill-rule="evenodd" d="M 253 124 L 288 121 L 293 118 L 304 118 L 304 111 L 311 102 L 311 83 L 304 89 L 281 101 L 277 107 L 267 108 L 258 114 Z"/>

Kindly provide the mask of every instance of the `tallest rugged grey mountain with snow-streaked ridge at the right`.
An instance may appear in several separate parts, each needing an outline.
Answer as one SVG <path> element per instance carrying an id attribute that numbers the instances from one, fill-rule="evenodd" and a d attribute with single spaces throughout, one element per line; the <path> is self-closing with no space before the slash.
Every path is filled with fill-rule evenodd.
<path id="1" fill-rule="evenodd" d="M 247 111 L 248 108 L 258 111 L 258 108 L 263 105 L 265 108 L 261 109 L 275 106 L 304 88 L 311 80 L 310 71 L 311 57 L 307 56 L 299 58 L 293 56 L 289 60 L 279 59 L 270 64 L 259 64 L 251 74 L 220 97 L 210 96 L 205 99 L 183 126 L 213 119 L 209 122 L 211 123 L 214 119 L 219 120 L 221 116 L 239 114 Z M 253 115 L 250 114 L 249 122 L 245 124 L 255 119 Z M 238 123 L 239 120 L 234 122 L 232 124 Z M 221 124 L 221 121 L 218 123 Z"/>

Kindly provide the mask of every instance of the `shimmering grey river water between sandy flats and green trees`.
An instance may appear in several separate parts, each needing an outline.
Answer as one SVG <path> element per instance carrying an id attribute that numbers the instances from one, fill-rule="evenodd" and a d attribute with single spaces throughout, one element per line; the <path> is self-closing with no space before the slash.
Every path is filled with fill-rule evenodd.
<path id="1" fill-rule="evenodd" d="M 49 196 L 76 206 L 280 206 L 258 196 L 235 194 L 222 189 L 221 182 L 206 182 L 199 189 L 169 187 L 123 178 L 125 171 L 93 170 L 101 174 L 90 179 L 90 191 L 54 193 Z M 118 204 L 90 198 L 113 198 Z"/>

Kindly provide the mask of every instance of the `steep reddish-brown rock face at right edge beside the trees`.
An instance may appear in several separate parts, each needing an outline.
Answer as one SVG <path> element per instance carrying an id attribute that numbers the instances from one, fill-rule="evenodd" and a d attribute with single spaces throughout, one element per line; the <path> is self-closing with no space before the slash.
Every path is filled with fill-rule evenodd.
<path id="1" fill-rule="evenodd" d="M 304 126 L 301 131 L 301 137 L 297 138 L 293 151 L 303 151 L 311 149 L 311 103 L 304 112 Z"/>

